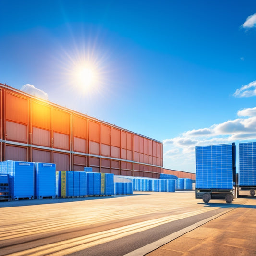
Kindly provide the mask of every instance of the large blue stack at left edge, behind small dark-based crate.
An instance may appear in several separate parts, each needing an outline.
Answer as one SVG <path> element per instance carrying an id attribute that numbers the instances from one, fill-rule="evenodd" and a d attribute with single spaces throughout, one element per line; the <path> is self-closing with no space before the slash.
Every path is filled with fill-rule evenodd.
<path id="1" fill-rule="evenodd" d="M 34 168 L 34 163 L 31 162 L 0 162 L 0 173 L 9 174 L 10 199 L 34 199 Z"/>

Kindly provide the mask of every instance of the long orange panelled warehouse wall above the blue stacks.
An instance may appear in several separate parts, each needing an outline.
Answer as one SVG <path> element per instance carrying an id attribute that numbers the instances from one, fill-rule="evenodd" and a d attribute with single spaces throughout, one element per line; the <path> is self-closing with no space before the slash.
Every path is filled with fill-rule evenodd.
<path id="1" fill-rule="evenodd" d="M 163 144 L 0 84 L 0 160 L 159 178 Z"/>

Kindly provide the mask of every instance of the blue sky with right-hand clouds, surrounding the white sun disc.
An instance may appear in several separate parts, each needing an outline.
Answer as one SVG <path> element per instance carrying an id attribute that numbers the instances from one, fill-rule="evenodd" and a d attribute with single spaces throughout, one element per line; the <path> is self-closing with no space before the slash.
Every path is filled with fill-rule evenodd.
<path id="1" fill-rule="evenodd" d="M 195 146 L 256 140 L 256 1 L 0 0 L 0 83 L 162 141 L 165 168 L 195 172 Z"/>

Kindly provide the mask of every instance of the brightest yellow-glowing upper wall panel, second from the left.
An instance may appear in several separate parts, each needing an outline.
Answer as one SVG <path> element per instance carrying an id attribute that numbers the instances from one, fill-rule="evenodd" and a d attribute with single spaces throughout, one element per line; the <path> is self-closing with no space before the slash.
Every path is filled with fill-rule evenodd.
<path id="1" fill-rule="evenodd" d="M 51 129 L 51 107 L 32 101 L 32 126 Z"/>

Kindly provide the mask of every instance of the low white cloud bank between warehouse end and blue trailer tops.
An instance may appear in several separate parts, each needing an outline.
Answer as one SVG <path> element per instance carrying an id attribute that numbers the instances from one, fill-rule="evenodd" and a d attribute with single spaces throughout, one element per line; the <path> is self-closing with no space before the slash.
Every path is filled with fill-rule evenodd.
<path id="1" fill-rule="evenodd" d="M 164 140 L 164 167 L 195 172 L 196 146 L 255 141 L 256 107 L 239 110 L 237 115 L 241 118 L 187 131 L 178 137 Z"/>

